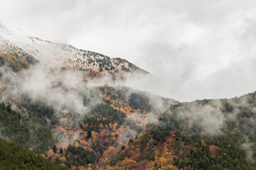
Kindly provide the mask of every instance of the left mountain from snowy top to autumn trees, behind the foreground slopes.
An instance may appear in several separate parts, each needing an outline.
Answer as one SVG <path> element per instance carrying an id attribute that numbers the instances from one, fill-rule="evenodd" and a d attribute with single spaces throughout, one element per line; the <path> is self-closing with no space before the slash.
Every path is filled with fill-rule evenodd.
<path id="1" fill-rule="evenodd" d="M 95 166 L 107 149 L 119 149 L 157 112 L 178 103 L 99 84 L 105 76 L 147 74 L 126 60 L 34 38 L 3 23 L 0 59 L 1 137 L 68 168 Z"/>

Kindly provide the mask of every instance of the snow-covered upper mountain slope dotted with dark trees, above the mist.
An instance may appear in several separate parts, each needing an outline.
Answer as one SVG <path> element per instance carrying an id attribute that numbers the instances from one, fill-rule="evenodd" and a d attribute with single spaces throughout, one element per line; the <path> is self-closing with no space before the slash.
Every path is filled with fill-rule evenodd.
<path id="1" fill-rule="evenodd" d="M 80 69 L 94 74 L 145 72 L 121 58 L 78 50 L 71 45 L 35 38 L 22 30 L 11 30 L 0 21 L 0 62 L 23 69 L 35 62 L 62 69 Z"/>

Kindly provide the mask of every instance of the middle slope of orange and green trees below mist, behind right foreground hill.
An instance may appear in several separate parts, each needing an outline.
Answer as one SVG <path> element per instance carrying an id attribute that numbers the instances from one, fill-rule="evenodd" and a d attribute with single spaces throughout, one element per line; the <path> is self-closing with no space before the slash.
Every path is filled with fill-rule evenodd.
<path id="1" fill-rule="evenodd" d="M 68 108 L 57 111 L 43 100 L 32 101 L 28 96 L 10 97 L 1 105 L 1 135 L 53 162 L 88 168 L 103 164 L 107 152 L 117 152 L 154 122 L 159 111 L 177 103 L 125 87 L 101 86 L 92 95 L 95 99 L 84 98 L 85 106 L 92 105 L 84 115 Z M 162 100 L 163 106 L 153 106 L 153 97 Z M 92 101 L 99 98 L 102 100 L 98 103 Z"/>

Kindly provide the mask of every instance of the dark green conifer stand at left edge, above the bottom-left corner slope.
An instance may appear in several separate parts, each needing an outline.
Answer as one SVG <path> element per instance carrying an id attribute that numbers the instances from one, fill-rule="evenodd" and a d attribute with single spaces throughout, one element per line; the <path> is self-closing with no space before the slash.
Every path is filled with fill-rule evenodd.
<path id="1" fill-rule="evenodd" d="M 33 147 L 36 152 L 43 153 L 48 146 L 53 147 L 54 140 L 50 128 L 36 118 L 11 110 L 11 106 L 0 104 L 1 135 L 21 147 Z"/>

